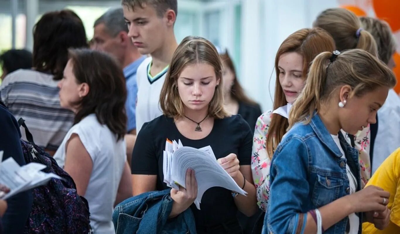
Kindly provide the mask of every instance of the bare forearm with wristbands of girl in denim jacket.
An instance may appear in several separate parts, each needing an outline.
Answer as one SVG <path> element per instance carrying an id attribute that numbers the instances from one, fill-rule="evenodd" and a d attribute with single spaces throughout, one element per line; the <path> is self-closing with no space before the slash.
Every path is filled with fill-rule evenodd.
<path id="1" fill-rule="evenodd" d="M 348 202 L 347 196 L 339 198 L 325 206 L 318 209 L 322 217 L 322 228 L 327 230 L 334 224 L 340 222 L 340 220 L 349 216 L 353 211 L 351 210 L 351 204 Z M 301 225 L 301 224 L 300 224 Z M 304 233 L 315 233 L 317 231 L 317 224 L 312 218 L 311 214 L 307 214 L 307 223 L 304 228 Z"/>

